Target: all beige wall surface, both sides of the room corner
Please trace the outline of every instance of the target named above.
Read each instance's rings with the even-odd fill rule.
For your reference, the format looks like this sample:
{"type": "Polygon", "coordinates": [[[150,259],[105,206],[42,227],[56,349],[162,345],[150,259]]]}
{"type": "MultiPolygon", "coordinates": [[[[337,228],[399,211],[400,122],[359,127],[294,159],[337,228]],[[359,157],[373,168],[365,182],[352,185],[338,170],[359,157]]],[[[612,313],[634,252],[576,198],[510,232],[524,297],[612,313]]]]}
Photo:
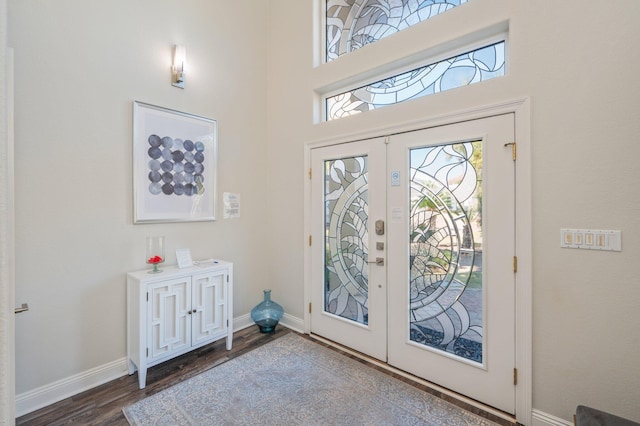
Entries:
{"type": "Polygon", "coordinates": [[[147,235],[234,261],[236,316],[269,285],[302,318],[305,143],[530,96],[533,407],[640,421],[640,3],[474,0],[319,67],[315,3],[8,2],[16,293],[31,306],[18,393],[124,356],[123,274],[145,266],[147,235]],[[508,77],[314,124],[315,89],[502,22],[508,77]],[[174,43],[193,61],[185,91],[168,83],[174,43]],[[241,193],[240,220],[132,225],[133,99],[219,120],[219,195],[241,193]],[[560,249],[561,227],[620,229],[623,251],[560,249]]]}

